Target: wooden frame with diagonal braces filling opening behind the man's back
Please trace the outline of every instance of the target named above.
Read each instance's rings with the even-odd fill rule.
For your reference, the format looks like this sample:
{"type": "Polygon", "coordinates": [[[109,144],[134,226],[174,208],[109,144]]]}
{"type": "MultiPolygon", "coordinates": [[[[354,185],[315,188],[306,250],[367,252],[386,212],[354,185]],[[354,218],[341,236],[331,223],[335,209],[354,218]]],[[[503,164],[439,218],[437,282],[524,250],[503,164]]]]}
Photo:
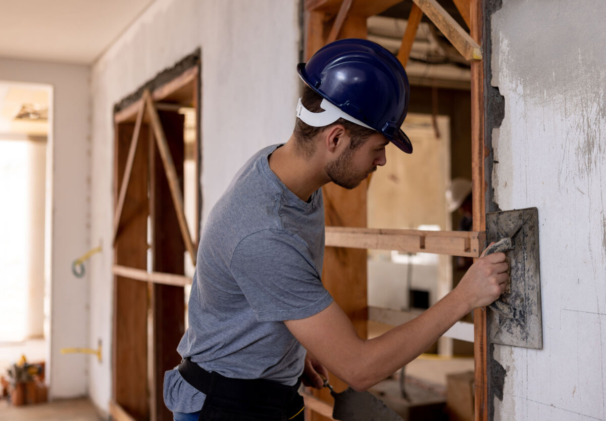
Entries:
{"type": "Polygon", "coordinates": [[[198,76],[199,62],[153,92],[143,89],[141,98],[114,116],[116,258],[112,269],[114,392],[110,409],[120,420],[172,419],[162,399],[162,382],[164,372],[181,360],[176,348],[185,329],[184,286],[191,284],[191,278],[184,275],[184,252],[193,264],[196,258],[196,244],[184,214],[184,116],[178,110],[179,104],[193,105],[198,117],[194,147],[198,151],[197,243],[201,204],[198,76]],[[156,107],[154,99],[164,103],[156,107]]]}

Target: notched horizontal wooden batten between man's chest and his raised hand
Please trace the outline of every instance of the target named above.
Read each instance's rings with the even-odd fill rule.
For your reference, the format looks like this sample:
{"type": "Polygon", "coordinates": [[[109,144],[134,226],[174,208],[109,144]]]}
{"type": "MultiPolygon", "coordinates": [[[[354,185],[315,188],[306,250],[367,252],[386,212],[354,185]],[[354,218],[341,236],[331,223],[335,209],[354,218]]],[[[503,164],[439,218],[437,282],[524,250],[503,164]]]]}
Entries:
{"type": "Polygon", "coordinates": [[[485,238],[485,232],[477,231],[419,231],[327,226],[325,244],[331,247],[479,257],[484,250],[485,238]]]}

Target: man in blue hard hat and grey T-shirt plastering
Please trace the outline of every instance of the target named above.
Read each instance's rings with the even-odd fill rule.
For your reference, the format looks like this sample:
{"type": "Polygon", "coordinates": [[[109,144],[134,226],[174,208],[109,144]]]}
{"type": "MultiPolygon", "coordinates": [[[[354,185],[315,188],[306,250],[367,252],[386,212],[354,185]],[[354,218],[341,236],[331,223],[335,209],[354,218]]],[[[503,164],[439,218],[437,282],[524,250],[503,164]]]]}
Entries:
{"type": "Polygon", "coordinates": [[[473,308],[504,291],[504,254],[483,257],[458,288],[415,320],[372,340],[359,338],[321,281],[321,187],[358,186],[385,164],[408,81],[378,44],[344,39],[299,64],[305,83],[295,130],[242,167],[204,226],[164,402],[185,420],[302,420],[301,382],[321,388],[330,369],[367,389],[415,359],[473,308]]]}

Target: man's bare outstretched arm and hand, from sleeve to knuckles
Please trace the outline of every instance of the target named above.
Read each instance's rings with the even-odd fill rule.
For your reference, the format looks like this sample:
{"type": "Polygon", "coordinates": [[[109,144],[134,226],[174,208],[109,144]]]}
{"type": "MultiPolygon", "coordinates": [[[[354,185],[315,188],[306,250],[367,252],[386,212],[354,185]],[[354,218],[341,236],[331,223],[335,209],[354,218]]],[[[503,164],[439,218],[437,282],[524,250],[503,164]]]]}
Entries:
{"type": "Polygon", "coordinates": [[[496,300],[508,279],[505,255],[495,253],[474,263],[461,283],[419,317],[385,334],[358,337],[338,304],[285,325],[301,344],[352,388],[365,390],[409,363],[465,314],[496,300]]]}

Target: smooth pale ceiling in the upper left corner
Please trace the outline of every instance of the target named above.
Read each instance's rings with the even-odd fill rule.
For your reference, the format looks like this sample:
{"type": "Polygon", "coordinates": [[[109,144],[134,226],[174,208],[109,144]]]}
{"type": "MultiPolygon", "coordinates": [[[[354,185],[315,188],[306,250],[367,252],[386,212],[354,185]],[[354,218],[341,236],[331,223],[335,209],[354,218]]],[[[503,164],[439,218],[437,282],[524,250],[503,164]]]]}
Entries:
{"type": "Polygon", "coordinates": [[[154,0],[0,0],[0,57],[92,64],[154,0]]]}

